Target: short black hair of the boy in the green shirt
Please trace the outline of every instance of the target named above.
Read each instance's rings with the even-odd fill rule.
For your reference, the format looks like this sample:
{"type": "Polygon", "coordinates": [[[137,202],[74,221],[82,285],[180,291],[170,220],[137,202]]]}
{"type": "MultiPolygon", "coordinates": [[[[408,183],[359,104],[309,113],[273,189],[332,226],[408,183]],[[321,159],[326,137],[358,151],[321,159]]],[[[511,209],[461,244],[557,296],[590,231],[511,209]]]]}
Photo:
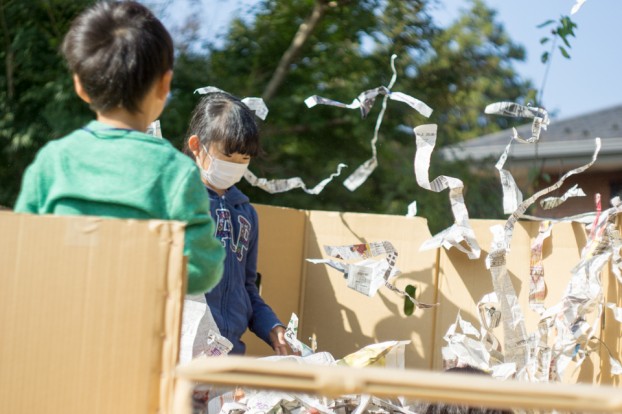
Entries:
{"type": "Polygon", "coordinates": [[[91,109],[138,113],[158,78],[173,69],[173,40],[151,11],[135,1],[98,2],[80,14],[63,40],[71,72],[91,109]]]}

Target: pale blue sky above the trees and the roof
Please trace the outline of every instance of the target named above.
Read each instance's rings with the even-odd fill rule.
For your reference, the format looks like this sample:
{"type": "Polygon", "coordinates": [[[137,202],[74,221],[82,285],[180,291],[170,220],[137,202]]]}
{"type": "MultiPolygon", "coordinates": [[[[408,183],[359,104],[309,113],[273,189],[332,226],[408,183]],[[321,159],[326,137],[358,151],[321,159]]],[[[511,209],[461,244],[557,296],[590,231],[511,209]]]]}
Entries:
{"type": "MultiPolygon", "coordinates": [[[[202,22],[207,36],[215,39],[222,34],[232,16],[244,13],[256,0],[190,0],[201,3],[205,10],[202,22]]],[[[501,22],[510,37],[525,47],[527,60],[516,65],[517,71],[540,87],[545,75],[545,65],[540,55],[545,47],[540,39],[548,35],[547,29],[537,26],[546,20],[557,20],[570,14],[575,0],[485,0],[498,11],[501,22]]],[[[449,24],[460,9],[468,8],[468,0],[441,0],[435,12],[438,22],[449,24]]],[[[198,7],[198,6],[197,6],[198,7]]],[[[169,17],[163,17],[167,26],[179,21],[179,11],[184,7],[169,7],[169,17]]],[[[568,60],[557,51],[552,58],[543,93],[544,106],[556,113],[557,119],[589,113],[622,104],[622,25],[621,0],[587,0],[572,16],[578,25],[576,38],[571,38],[568,60]]]]}

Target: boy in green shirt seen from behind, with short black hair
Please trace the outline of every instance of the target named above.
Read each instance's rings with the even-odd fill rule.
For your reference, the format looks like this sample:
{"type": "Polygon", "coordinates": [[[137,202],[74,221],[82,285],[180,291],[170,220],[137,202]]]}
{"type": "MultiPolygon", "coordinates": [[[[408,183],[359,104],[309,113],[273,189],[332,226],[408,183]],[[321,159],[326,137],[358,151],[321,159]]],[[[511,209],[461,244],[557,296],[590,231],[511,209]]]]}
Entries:
{"type": "Polygon", "coordinates": [[[63,54],[97,120],[45,145],[24,174],[16,212],[186,222],[188,293],[211,290],[225,257],[196,165],[144,133],[173,76],[173,41],[143,5],[100,2],[72,23],[63,54]]]}

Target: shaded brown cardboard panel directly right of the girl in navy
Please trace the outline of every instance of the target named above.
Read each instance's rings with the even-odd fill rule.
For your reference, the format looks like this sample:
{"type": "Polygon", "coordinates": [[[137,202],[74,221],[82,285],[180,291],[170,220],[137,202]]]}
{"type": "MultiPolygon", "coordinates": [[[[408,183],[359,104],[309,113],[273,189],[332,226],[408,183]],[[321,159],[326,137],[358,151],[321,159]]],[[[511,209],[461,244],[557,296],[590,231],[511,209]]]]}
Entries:
{"type": "MultiPolygon", "coordinates": [[[[303,249],[307,213],[291,208],[253,205],[259,216],[260,294],[287,325],[292,312],[300,314],[303,249]]],[[[246,331],[242,340],[246,354],[273,355],[274,351],[254,333],[246,331]]]]}

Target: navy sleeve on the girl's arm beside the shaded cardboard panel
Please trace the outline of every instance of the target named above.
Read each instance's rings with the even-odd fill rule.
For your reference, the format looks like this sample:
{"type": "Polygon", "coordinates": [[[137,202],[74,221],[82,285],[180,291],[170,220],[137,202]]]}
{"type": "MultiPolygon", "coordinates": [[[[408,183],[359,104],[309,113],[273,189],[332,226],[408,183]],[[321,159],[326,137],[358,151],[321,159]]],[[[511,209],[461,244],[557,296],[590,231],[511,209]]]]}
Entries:
{"type": "Polygon", "coordinates": [[[265,343],[270,343],[270,331],[277,325],[283,325],[274,311],[261,296],[257,289],[257,251],[258,251],[258,220],[257,212],[252,210],[253,222],[255,223],[252,239],[248,247],[248,260],[246,261],[246,291],[253,308],[253,316],[249,322],[248,328],[261,338],[265,343]]]}

